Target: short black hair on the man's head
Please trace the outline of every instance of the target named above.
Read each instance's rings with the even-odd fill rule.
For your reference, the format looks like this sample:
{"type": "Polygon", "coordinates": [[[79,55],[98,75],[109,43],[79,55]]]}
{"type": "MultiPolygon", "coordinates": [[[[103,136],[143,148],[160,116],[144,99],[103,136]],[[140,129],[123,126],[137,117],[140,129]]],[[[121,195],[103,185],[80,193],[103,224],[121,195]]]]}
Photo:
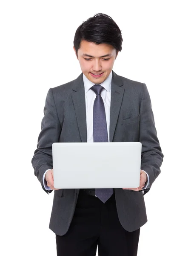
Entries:
{"type": "Polygon", "coordinates": [[[120,28],[110,16],[103,13],[88,18],[77,28],[74,36],[76,55],[82,40],[95,44],[110,44],[117,53],[122,50],[123,38],[120,28]]]}

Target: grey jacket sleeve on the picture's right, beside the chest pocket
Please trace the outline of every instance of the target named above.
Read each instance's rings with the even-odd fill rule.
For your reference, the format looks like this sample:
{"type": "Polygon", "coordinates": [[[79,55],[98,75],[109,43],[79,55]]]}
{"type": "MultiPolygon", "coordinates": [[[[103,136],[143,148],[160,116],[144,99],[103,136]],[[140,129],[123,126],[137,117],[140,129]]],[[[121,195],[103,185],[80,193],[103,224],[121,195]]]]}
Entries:
{"type": "Polygon", "coordinates": [[[148,188],[143,190],[143,195],[145,195],[160,174],[160,166],[164,157],[157,138],[151,99],[145,84],[143,84],[140,106],[140,142],[142,143],[141,169],[148,173],[150,180],[148,188]]]}

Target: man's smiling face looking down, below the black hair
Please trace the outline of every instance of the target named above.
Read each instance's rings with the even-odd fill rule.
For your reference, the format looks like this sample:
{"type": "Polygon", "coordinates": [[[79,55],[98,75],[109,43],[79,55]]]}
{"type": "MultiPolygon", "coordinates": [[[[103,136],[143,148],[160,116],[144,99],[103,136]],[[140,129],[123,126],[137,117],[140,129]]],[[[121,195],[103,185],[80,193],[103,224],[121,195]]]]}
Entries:
{"type": "Polygon", "coordinates": [[[116,49],[110,44],[97,45],[82,40],[77,55],[83,74],[92,83],[101,84],[111,73],[118,53],[116,55],[116,49]],[[95,76],[92,73],[98,75],[95,76]]]}

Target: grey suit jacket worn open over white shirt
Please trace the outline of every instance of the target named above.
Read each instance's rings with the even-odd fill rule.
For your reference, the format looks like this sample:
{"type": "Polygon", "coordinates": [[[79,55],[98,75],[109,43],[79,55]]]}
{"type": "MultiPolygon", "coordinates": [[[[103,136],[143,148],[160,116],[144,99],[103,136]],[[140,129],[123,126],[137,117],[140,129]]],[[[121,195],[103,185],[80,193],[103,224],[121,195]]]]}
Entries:
{"type": "MultiPolygon", "coordinates": [[[[150,178],[150,186],[144,194],[143,191],[114,189],[120,223],[127,231],[134,231],[147,222],[143,195],[160,174],[164,155],[157,138],[146,85],[118,76],[113,70],[112,73],[110,142],[140,141],[141,169],[150,178]]],[[[41,128],[31,163],[34,175],[44,189],[43,174],[53,168],[52,143],[87,142],[83,73],[73,81],[48,90],[41,128]]],[[[49,228],[57,235],[62,236],[68,231],[79,190],[54,190],[49,228]]],[[[52,190],[45,191],[51,193],[52,190]]]]}

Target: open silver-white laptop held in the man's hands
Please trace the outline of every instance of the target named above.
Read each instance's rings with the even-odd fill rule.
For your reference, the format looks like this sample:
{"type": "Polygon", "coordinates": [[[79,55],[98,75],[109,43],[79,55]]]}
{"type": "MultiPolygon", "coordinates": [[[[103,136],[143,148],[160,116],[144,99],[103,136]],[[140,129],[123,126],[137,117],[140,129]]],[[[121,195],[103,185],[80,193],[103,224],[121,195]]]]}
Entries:
{"type": "Polygon", "coordinates": [[[53,143],[56,189],[140,186],[140,142],[53,143]]]}

